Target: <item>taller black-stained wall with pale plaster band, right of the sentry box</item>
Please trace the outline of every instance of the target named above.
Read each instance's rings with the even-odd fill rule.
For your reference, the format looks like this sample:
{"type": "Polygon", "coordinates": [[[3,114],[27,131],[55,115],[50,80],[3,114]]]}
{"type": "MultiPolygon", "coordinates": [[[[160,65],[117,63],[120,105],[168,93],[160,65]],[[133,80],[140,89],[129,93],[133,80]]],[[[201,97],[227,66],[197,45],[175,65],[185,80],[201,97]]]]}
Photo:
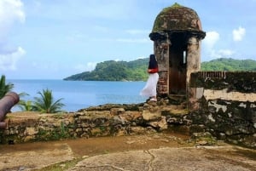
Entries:
{"type": "Polygon", "coordinates": [[[256,147],[256,72],[195,72],[189,87],[192,132],[256,147]]]}

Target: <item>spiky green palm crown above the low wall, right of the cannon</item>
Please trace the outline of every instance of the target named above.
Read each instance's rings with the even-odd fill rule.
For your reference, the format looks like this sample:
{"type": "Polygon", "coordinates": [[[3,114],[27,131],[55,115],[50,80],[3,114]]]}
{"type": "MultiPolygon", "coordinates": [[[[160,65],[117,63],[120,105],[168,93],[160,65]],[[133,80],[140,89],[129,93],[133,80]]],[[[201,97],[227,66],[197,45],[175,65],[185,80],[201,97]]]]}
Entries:
{"type": "Polygon", "coordinates": [[[40,94],[41,97],[34,98],[35,111],[56,113],[61,111],[61,107],[64,106],[64,104],[61,103],[61,100],[63,100],[63,98],[54,101],[52,91],[48,88],[43,89],[43,92],[38,92],[38,94],[40,94]]]}

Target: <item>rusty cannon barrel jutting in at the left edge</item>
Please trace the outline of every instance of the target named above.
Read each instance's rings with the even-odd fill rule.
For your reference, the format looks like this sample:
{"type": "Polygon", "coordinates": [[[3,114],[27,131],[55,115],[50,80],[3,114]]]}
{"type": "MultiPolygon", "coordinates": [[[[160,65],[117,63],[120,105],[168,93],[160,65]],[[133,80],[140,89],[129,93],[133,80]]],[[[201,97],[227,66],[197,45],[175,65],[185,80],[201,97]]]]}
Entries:
{"type": "Polygon", "coordinates": [[[3,96],[0,100],[0,122],[3,121],[5,115],[19,102],[19,100],[20,97],[15,92],[8,92],[3,96]]]}

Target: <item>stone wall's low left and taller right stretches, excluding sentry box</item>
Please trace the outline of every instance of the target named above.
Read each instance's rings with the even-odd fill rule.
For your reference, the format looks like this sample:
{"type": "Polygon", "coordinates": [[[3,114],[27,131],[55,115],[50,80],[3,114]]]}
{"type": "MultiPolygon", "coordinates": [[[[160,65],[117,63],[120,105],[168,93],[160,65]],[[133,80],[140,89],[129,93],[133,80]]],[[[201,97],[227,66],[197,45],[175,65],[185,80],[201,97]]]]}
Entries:
{"type": "Polygon", "coordinates": [[[0,129],[0,144],[164,130],[189,134],[195,143],[224,140],[256,149],[256,72],[192,73],[188,97],[169,95],[157,102],[59,114],[9,113],[4,119],[7,128],[0,129]]]}

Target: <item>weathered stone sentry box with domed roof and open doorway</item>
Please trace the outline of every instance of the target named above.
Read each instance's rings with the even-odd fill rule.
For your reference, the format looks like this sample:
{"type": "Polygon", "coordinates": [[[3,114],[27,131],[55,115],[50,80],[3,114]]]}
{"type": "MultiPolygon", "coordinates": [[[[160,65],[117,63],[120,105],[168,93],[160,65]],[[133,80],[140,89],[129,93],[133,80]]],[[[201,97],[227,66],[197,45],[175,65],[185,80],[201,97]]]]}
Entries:
{"type": "Polygon", "coordinates": [[[201,39],[206,36],[195,10],[177,3],[163,9],[149,37],[159,65],[159,95],[186,95],[190,73],[201,70],[201,39]]]}

